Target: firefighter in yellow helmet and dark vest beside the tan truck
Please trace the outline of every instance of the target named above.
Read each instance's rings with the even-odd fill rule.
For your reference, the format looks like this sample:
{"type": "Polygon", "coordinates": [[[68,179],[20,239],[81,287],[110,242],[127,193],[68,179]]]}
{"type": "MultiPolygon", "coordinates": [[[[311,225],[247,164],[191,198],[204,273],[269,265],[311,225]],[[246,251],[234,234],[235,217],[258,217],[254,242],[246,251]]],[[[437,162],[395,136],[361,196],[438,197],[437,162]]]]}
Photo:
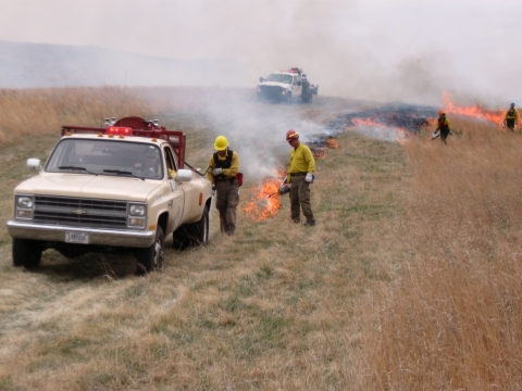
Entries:
{"type": "Polygon", "coordinates": [[[239,203],[239,156],[228,149],[228,140],[217,136],[214,152],[209,160],[207,177],[214,184],[216,191],[215,207],[220,212],[221,231],[234,235],[236,229],[236,207],[239,203]]]}

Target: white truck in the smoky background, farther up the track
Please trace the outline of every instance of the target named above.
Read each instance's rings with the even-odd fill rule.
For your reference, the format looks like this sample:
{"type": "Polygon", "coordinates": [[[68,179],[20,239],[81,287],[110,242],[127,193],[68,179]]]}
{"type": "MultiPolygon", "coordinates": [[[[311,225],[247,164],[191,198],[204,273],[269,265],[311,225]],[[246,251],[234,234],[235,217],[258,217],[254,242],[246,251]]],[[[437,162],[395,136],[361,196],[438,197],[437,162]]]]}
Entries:
{"type": "Polygon", "coordinates": [[[291,67],[260,77],[257,86],[258,101],[291,102],[301,100],[310,103],[318,94],[319,86],[311,85],[301,68],[291,67]]]}

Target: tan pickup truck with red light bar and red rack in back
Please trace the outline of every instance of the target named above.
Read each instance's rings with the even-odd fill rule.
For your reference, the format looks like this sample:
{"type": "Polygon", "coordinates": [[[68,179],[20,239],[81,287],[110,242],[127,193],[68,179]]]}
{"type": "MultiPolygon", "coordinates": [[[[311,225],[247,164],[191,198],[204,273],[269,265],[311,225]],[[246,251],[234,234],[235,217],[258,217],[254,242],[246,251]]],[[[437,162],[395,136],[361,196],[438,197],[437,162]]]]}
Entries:
{"type": "Polygon", "coordinates": [[[207,244],[212,184],[186,169],[186,135],[126,117],[103,127],[63,126],[39,174],[14,189],[13,264],[41,253],[133,253],[137,273],[162,267],[165,238],[178,249],[207,244]]]}

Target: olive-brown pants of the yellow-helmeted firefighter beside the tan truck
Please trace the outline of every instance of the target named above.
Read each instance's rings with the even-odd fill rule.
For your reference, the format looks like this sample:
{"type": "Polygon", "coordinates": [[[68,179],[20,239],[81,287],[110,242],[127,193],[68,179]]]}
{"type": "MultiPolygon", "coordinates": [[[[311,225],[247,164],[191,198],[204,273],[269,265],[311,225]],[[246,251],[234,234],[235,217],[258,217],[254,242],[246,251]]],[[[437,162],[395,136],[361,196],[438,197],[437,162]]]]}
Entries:
{"type": "Polygon", "coordinates": [[[236,207],[239,203],[239,184],[237,179],[215,181],[215,207],[220,211],[221,231],[234,235],[236,230],[236,207]]]}

